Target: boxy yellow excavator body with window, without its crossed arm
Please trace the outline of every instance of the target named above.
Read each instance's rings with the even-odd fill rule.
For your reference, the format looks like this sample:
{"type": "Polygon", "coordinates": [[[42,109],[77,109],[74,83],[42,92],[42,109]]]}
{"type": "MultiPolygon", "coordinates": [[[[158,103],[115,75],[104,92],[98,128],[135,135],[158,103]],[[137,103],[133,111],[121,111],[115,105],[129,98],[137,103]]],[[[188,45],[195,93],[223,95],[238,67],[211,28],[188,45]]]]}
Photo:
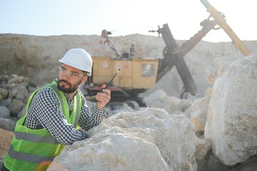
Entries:
{"type": "MultiPolygon", "coordinates": [[[[154,88],[157,80],[159,60],[130,53],[120,55],[114,43],[109,38],[110,31],[103,30],[100,43],[107,43],[115,56],[92,56],[93,74],[83,87],[86,95],[95,95],[103,84],[107,84],[118,68],[119,74],[113,79],[108,89],[112,97],[136,97],[137,93],[154,88]]],[[[130,48],[130,47],[129,47],[130,48]]],[[[104,53],[103,53],[104,54],[104,53]]]]}

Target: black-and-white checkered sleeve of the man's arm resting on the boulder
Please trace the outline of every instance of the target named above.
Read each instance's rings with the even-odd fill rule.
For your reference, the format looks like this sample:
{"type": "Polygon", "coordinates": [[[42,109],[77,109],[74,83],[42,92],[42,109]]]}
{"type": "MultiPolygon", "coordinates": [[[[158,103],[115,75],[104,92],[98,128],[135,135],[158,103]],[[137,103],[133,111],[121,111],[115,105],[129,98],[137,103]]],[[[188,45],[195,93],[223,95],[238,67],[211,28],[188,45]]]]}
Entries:
{"type": "Polygon", "coordinates": [[[76,130],[68,123],[59,105],[58,98],[51,88],[39,90],[28,110],[26,126],[33,128],[33,125],[36,125],[33,122],[36,120],[64,145],[71,145],[75,141],[87,138],[85,130],[76,130]]]}

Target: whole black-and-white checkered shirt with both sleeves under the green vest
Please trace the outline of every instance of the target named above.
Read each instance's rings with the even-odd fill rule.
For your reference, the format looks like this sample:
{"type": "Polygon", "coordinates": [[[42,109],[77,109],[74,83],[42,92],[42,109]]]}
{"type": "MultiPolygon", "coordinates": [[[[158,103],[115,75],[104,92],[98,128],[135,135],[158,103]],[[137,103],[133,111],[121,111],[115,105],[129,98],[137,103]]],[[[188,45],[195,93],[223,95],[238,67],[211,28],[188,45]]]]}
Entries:
{"type": "MultiPolygon", "coordinates": [[[[75,95],[78,94],[78,91],[75,95]]],[[[68,108],[71,114],[74,97],[68,98],[68,95],[65,94],[65,98],[68,102],[68,108]]],[[[64,145],[71,145],[75,141],[87,138],[85,130],[89,130],[101,123],[104,117],[105,109],[95,107],[93,112],[91,112],[88,105],[85,103],[85,97],[82,95],[82,109],[78,125],[83,129],[76,130],[73,128],[73,125],[67,123],[65,116],[60,110],[58,98],[53,90],[51,88],[42,88],[38,90],[38,93],[34,95],[31,101],[25,125],[33,130],[46,128],[58,142],[64,145]]]]}

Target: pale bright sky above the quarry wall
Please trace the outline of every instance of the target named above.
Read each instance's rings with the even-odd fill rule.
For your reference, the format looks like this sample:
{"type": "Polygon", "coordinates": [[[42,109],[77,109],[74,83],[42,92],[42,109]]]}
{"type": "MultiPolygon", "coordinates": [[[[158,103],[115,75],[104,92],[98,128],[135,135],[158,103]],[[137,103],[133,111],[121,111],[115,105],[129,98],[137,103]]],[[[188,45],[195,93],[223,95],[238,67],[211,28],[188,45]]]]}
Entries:
{"type": "MultiPolygon", "coordinates": [[[[257,40],[256,0],[209,0],[242,41],[257,40]]],[[[209,17],[200,0],[0,0],[0,33],[33,36],[143,34],[158,36],[168,24],[177,40],[188,40],[209,17]]],[[[211,30],[204,41],[226,42],[224,30],[211,30]]]]}

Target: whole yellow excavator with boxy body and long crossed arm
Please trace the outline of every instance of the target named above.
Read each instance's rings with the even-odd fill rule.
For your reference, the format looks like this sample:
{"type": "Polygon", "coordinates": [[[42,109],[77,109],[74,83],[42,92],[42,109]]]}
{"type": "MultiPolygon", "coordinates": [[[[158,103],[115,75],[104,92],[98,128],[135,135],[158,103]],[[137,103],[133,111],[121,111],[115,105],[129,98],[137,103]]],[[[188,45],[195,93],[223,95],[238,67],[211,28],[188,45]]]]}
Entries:
{"type": "Polygon", "coordinates": [[[223,28],[224,31],[231,37],[232,42],[238,48],[243,55],[251,53],[243,42],[236,36],[234,31],[226,24],[226,18],[224,14],[216,11],[207,0],[200,0],[207,11],[211,14],[208,19],[201,21],[201,30],[198,31],[188,41],[177,45],[172,33],[167,24],[164,24],[162,28],[158,26],[157,32],[162,34],[166,47],[163,50],[162,59],[138,58],[130,53],[120,53],[115,48],[114,44],[108,37],[110,31],[103,30],[101,36],[102,45],[108,43],[115,52],[116,58],[110,56],[98,56],[93,57],[93,76],[88,79],[88,83],[84,86],[87,95],[95,95],[100,88],[101,84],[106,84],[110,81],[114,73],[120,68],[119,75],[112,81],[112,85],[109,89],[112,90],[112,97],[137,97],[137,93],[141,93],[149,88],[154,88],[154,85],[160,78],[162,78],[173,66],[177,68],[179,76],[182,78],[184,88],[181,93],[181,98],[185,93],[197,94],[197,88],[194,80],[189,72],[189,68],[184,61],[184,56],[196,46],[202,38],[211,31],[211,29],[223,28]],[[211,19],[213,18],[213,19],[211,19]]]}

